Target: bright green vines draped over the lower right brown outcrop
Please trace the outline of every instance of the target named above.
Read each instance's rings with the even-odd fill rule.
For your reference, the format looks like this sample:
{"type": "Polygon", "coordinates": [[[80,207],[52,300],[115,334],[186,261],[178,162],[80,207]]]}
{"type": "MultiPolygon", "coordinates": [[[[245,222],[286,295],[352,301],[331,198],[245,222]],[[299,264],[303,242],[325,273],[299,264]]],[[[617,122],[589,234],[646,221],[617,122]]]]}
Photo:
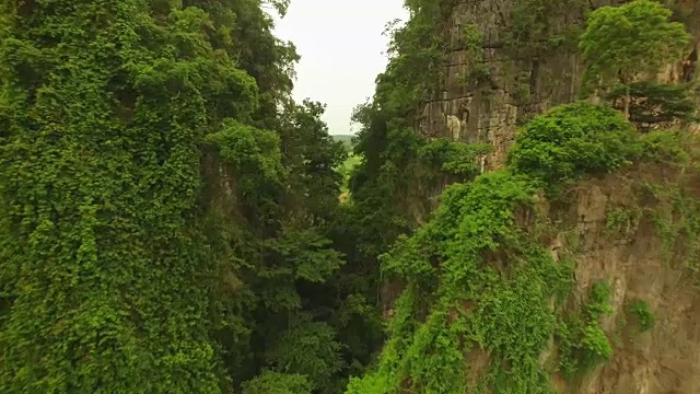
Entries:
{"type": "Polygon", "coordinates": [[[514,220],[536,189],[526,176],[501,171],[445,190],[435,218],[383,259],[387,274],[410,290],[396,304],[377,372],[352,381],[348,393],[547,387],[537,360],[556,325],[549,299],[567,294],[572,267],[528,242],[514,220]],[[492,367],[469,381],[465,357],[478,349],[492,367]]]}

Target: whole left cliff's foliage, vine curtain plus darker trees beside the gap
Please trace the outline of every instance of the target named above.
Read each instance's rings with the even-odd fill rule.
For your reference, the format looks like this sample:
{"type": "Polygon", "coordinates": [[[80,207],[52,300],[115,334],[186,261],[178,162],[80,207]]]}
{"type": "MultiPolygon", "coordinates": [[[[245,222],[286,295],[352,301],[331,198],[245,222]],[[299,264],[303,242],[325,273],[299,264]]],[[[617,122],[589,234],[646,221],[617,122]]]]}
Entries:
{"type": "Polygon", "coordinates": [[[0,7],[0,391],[339,392],[381,326],[260,1],[0,7]]]}

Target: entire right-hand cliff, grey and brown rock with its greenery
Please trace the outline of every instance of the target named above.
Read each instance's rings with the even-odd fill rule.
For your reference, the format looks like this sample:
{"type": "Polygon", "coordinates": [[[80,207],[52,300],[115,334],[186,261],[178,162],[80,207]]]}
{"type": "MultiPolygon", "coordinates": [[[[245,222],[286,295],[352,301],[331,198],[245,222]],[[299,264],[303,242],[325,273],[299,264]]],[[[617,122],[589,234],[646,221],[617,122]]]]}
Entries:
{"type": "Polygon", "coordinates": [[[390,325],[348,393],[695,392],[696,3],[407,5],[357,113],[390,325]]]}

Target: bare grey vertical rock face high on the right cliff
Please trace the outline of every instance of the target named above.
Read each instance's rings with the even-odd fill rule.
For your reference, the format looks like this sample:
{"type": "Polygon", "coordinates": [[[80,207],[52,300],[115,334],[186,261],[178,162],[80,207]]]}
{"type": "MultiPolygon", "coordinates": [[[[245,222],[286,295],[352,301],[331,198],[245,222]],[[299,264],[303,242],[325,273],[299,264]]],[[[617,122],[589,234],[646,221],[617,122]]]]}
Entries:
{"type": "MultiPolygon", "coordinates": [[[[494,152],[486,158],[486,167],[499,167],[520,123],[578,97],[583,65],[575,39],[567,42],[567,37],[582,26],[592,7],[615,3],[619,1],[460,0],[446,24],[444,77],[433,95],[436,99],[423,105],[421,131],[465,142],[488,141],[494,152]],[[527,15],[534,20],[522,22],[523,10],[537,8],[539,14],[527,15]],[[465,49],[465,31],[472,27],[483,38],[480,54],[465,49]],[[477,69],[481,70],[480,78],[470,78],[477,69]]],[[[695,50],[686,61],[669,65],[660,77],[695,81],[699,76],[700,2],[666,3],[675,19],[688,26],[695,50]]]]}

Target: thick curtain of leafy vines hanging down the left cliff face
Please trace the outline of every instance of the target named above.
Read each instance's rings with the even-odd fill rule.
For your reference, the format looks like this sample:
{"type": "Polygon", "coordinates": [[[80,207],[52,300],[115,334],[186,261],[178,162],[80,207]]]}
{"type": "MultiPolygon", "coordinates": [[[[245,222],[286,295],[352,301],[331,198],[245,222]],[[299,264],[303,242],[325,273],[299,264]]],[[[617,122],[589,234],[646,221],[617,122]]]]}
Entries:
{"type": "Polygon", "coordinates": [[[220,392],[197,142],[255,80],[197,8],[2,5],[0,391],[220,392]]]}

